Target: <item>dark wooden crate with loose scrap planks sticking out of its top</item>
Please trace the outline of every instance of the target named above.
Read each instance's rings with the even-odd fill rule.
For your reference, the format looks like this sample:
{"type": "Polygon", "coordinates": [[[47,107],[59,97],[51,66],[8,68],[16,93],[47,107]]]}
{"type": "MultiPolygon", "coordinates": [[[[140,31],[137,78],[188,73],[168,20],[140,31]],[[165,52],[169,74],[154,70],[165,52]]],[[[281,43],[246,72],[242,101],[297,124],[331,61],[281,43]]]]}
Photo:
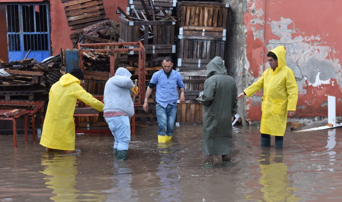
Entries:
{"type": "Polygon", "coordinates": [[[175,53],[174,28],[173,21],[129,21],[120,17],[119,42],[142,41],[146,54],[175,53]],[[153,33],[148,31],[149,26],[153,33]]]}

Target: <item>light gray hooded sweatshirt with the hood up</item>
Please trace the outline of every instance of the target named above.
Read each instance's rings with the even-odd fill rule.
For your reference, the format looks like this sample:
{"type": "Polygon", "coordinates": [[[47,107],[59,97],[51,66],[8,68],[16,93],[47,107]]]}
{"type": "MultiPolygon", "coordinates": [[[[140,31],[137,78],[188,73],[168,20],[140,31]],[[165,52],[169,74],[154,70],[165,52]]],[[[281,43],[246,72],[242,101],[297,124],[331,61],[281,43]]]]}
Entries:
{"type": "Polygon", "coordinates": [[[130,79],[132,74],[125,68],[119,67],[114,77],[110,78],[106,85],[103,96],[105,104],[103,111],[121,111],[129,117],[134,115],[134,107],[130,89],[134,87],[130,79]]]}

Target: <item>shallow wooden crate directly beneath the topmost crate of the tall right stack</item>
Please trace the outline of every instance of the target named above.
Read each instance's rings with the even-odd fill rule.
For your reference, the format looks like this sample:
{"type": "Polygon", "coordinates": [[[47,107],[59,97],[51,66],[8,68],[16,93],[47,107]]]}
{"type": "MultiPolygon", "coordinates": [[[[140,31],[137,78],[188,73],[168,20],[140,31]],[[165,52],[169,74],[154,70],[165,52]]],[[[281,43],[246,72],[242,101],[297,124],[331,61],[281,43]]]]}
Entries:
{"type": "Polygon", "coordinates": [[[203,27],[203,26],[182,26],[178,31],[178,39],[197,39],[209,41],[225,41],[226,28],[224,27],[203,27]]]}

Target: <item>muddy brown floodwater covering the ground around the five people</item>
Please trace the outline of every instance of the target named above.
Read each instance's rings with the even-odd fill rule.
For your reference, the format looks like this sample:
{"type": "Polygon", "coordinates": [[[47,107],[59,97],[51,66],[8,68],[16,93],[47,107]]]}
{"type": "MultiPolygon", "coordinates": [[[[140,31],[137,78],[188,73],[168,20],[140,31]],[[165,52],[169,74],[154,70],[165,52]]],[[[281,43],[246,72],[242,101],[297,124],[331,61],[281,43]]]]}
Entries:
{"type": "Polygon", "coordinates": [[[76,153],[45,152],[39,140],[0,135],[0,201],[342,201],[342,130],[286,132],[284,148],[260,147],[257,127],[233,131],[233,165],[205,169],[202,125],[175,127],[158,145],[157,126],[137,127],[129,159],[114,137],[82,134],[76,153]]]}

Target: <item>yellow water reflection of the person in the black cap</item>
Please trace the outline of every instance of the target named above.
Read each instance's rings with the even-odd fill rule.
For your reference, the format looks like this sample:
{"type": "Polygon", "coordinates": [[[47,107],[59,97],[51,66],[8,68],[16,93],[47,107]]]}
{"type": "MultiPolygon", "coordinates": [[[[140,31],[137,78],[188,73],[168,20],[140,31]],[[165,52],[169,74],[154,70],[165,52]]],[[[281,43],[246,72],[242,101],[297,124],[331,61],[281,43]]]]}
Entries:
{"type": "Polygon", "coordinates": [[[52,193],[56,196],[51,197],[53,201],[77,201],[76,175],[77,163],[75,156],[68,156],[66,154],[43,155],[41,165],[45,166],[41,173],[47,175],[43,179],[48,188],[53,189],[52,193]]]}

